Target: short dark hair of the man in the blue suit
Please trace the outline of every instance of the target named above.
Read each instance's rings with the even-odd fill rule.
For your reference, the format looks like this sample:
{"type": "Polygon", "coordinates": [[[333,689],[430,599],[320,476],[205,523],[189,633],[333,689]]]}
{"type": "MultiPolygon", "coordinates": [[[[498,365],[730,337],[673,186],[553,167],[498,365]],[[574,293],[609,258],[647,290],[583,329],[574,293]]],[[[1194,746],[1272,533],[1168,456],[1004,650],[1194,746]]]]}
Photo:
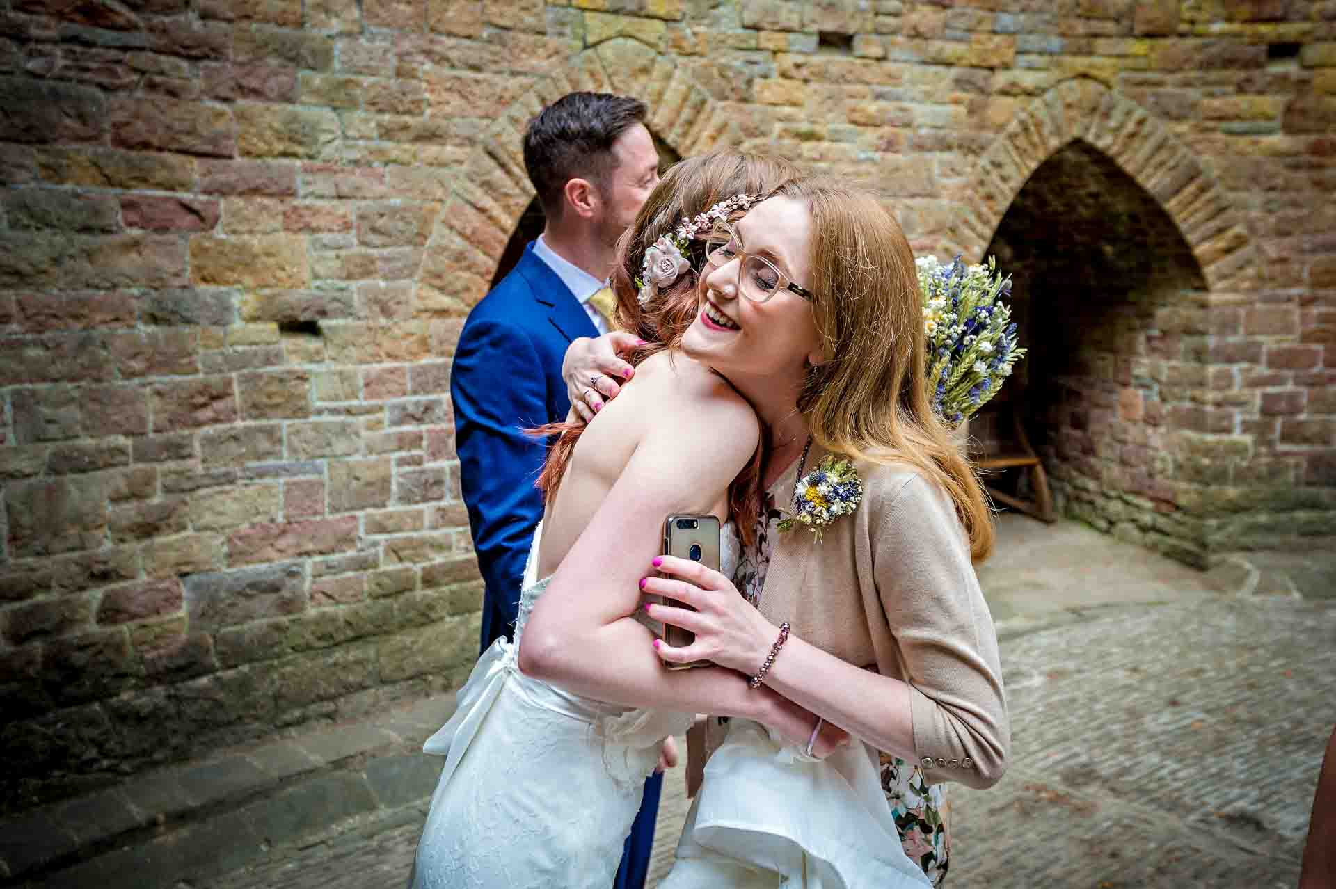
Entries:
{"type": "Polygon", "coordinates": [[[549,219],[561,215],[572,179],[599,188],[613,171],[612,143],[644,123],[645,103],[607,92],[568,92],[538,112],[524,131],[524,168],[549,219]]]}

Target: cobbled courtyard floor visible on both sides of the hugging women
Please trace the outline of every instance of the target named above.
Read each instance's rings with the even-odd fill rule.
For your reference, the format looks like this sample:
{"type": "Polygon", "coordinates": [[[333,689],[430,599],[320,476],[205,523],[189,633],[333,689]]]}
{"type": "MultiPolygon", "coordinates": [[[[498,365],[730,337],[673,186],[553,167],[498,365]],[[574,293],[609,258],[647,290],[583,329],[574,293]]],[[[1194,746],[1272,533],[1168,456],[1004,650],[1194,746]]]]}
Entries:
{"type": "MultiPolygon", "coordinates": [[[[1003,526],[1014,545],[981,571],[1013,765],[990,790],[951,788],[946,885],[1295,886],[1336,723],[1336,605],[1222,595],[1088,529],[1031,529],[1045,530],[1003,526]]],[[[401,886],[422,812],[196,885],[401,886]]],[[[679,769],[664,784],[651,886],[684,812],[679,769]]]]}

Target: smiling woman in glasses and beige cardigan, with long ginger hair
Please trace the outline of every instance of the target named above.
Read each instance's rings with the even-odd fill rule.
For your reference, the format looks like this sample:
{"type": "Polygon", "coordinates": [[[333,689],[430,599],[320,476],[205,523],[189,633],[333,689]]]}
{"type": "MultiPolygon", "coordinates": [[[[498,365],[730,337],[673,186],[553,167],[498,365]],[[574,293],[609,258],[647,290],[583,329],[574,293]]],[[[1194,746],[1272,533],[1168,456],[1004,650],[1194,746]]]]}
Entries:
{"type": "MultiPolygon", "coordinates": [[[[882,782],[887,790],[902,785],[900,838],[937,881],[945,876],[945,829],[923,817],[941,804],[925,781],[987,788],[1001,777],[1010,742],[997,635],[971,565],[991,549],[991,519],[978,481],[930,408],[914,258],[894,218],[872,198],[832,183],[800,180],[779,195],[810,211],[811,255],[795,278],[812,294],[820,350],[783,386],[772,368],[756,379],[728,376],[768,434],[762,542],[735,578],[665,558],[645,566],[643,589],[695,609],[648,607],[656,621],[696,634],[687,647],[660,645],[664,661],[708,659],[758,677],[890,754],[882,756],[882,782]],[[862,502],[822,527],[820,539],[802,523],[778,535],[776,519],[798,513],[799,479],[827,455],[851,461],[862,502]],[[922,777],[911,780],[911,772],[922,777]]],[[[711,243],[701,272],[705,299],[725,319],[737,318],[733,307],[747,296],[739,292],[747,287],[741,264],[760,240],[758,227],[748,228],[752,214],[711,243]]],[[[740,336],[767,335],[728,332],[697,344],[700,359],[708,363],[711,348],[739,348],[740,336]]],[[[591,367],[620,371],[607,342],[577,342],[566,367],[574,396],[593,407],[600,399],[582,382],[591,367]]],[[[737,731],[736,721],[721,722],[708,723],[711,748],[737,731]]],[[[680,860],[731,842],[701,822],[712,769],[680,860]]]]}

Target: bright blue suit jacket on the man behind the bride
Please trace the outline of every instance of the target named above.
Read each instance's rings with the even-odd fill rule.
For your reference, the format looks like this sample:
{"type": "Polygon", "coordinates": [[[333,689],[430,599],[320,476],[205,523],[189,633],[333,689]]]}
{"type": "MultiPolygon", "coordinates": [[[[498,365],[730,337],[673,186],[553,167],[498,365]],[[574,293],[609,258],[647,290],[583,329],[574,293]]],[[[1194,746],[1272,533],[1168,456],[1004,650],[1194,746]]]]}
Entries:
{"type": "Polygon", "coordinates": [[[482,650],[510,637],[524,563],[542,518],[534,487],[546,444],[521,428],[566,418],[561,359],[577,336],[599,331],[552,268],[524,250],[520,263],[464,323],[450,370],[460,482],[486,583],[482,650]]]}

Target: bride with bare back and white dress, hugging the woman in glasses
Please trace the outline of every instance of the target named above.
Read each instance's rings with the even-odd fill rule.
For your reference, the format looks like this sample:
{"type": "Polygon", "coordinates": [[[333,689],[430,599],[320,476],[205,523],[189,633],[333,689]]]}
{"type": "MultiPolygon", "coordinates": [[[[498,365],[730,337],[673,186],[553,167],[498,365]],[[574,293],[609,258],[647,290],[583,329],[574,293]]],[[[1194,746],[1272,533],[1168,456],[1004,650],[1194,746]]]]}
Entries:
{"type": "MultiPolygon", "coordinates": [[[[790,172],[737,152],[683,162],[637,216],[615,286],[635,292],[645,244],[684,215],[772,188],[790,172]]],[[[693,323],[695,274],[677,271],[677,280],[660,276],[660,292],[640,311],[656,332],[673,330],[659,318],[673,306],[679,332],[693,323]]],[[[425,746],[445,766],[413,889],[607,889],[660,742],[683,731],[688,714],[755,719],[795,745],[814,738],[812,714],[748,689],[735,670],[665,670],[640,610],[637,582],[667,515],[727,519],[736,503],[755,502],[759,426],[747,402],[705,364],[647,347],[617,403],[569,431],[541,479],[548,503],[514,643],[498,639],[484,653],[454,715],[425,746]]],[[[818,754],[843,737],[815,735],[818,754]]]]}

